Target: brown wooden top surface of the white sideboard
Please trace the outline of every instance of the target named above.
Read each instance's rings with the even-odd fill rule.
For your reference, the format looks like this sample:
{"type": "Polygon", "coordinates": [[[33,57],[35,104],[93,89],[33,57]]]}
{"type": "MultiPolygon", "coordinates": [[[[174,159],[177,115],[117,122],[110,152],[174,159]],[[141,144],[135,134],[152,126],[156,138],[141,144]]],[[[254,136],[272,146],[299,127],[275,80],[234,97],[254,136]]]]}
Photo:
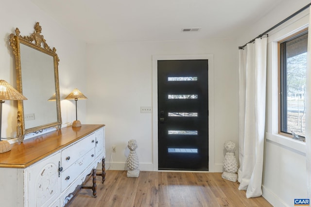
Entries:
{"type": "Polygon", "coordinates": [[[82,127],[64,127],[11,144],[11,151],[0,154],[0,167],[26,168],[52,153],[85,137],[104,125],[82,125],[82,127]]]}

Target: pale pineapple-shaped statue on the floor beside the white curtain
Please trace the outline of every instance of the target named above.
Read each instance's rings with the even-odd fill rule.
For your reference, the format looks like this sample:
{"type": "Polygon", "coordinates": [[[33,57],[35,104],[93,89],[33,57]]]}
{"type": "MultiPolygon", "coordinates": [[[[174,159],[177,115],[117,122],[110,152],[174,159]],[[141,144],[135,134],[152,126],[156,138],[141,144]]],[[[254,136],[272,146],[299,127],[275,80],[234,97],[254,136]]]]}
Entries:
{"type": "Polygon", "coordinates": [[[238,163],[234,155],[235,143],[230,140],[226,141],[225,150],[224,173],[222,174],[222,178],[236,182],[238,180],[238,175],[236,174],[238,170],[238,163]]]}

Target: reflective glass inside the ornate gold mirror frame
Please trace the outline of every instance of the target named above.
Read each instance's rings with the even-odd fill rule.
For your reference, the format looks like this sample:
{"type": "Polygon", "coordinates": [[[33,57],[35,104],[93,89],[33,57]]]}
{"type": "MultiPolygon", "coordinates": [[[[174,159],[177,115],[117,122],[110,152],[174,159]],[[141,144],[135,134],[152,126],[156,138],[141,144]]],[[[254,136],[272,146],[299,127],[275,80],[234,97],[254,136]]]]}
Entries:
{"type": "Polygon", "coordinates": [[[22,66],[25,128],[57,122],[56,101],[49,101],[55,94],[53,57],[20,44],[22,66]],[[34,61],[37,60],[37,61],[34,61]]]}

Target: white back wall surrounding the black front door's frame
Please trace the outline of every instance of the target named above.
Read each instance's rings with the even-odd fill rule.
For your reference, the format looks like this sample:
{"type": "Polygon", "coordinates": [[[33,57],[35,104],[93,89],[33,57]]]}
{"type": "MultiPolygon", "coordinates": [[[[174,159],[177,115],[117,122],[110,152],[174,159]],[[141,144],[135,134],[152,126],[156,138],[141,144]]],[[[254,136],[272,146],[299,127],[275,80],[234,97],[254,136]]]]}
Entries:
{"type": "Polygon", "coordinates": [[[224,142],[237,143],[237,52],[232,39],[87,45],[86,120],[106,125],[106,167],[123,170],[127,142],[136,139],[140,170],[153,170],[152,114],[140,113],[152,106],[152,56],[213,54],[214,169],[222,172],[224,142]]]}

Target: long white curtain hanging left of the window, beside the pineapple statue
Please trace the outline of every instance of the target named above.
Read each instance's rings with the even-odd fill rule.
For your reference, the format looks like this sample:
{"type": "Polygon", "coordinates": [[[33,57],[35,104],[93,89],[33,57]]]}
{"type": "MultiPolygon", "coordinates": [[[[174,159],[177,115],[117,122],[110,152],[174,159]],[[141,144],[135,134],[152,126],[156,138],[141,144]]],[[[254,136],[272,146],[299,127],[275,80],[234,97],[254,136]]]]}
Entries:
{"type": "Polygon", "coordinates": [[[266,110],[267,38],[239,50],[239,190],[246,197],[262,194],[266,110]]]}

